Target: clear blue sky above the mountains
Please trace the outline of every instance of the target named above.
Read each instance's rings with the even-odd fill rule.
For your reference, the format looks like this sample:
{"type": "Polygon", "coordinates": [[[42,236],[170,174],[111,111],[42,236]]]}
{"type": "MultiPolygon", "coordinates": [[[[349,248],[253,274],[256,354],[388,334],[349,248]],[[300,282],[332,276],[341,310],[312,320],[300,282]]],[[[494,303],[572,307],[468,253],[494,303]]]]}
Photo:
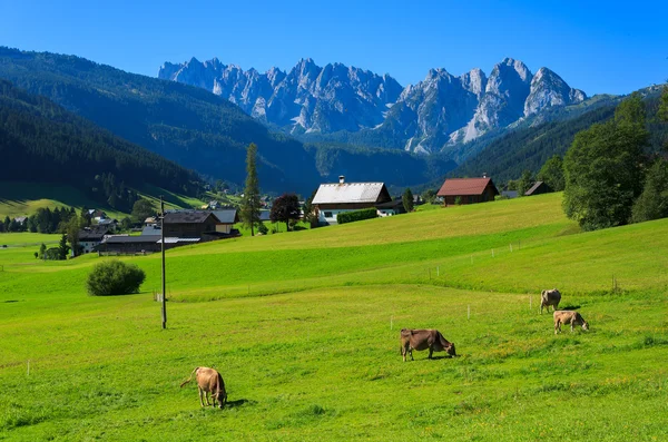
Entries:
{"type": "Polygon", "coordinates": [[[156,76],[165,61],[289,69],[311,57],[390,73],[489,73],[504,57],[570,86],[628,94],[668,79],[668,1],[0,0],[0,46],[72,53],[156,76]]]}

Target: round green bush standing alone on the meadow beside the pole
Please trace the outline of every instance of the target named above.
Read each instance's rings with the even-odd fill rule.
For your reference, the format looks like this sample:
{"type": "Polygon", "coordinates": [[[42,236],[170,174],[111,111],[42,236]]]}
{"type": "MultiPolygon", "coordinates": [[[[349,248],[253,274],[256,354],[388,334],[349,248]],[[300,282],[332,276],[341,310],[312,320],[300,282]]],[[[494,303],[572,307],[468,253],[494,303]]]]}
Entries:
{"type": "Polygon", "coordinates": [[[107,261],[92,267],[86,287],[92,296],[112,296],[138,293],[146,274],[135,264],[107,261]]]}

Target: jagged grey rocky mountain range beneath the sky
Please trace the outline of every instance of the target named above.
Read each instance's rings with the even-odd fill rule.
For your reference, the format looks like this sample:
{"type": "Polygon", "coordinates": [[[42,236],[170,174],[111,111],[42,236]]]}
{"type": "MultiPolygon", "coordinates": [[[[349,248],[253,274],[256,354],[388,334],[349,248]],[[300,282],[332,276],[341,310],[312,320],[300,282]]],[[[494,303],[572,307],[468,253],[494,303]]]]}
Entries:
{"type": "Polygon", "coordinates": [[[366,132],[419,154],[448,153],[456,146],[513,127],[587,95],[548,68],[532,73],[505,58],[488,76],[481,69],[455,77],[431,69],[416,85],[401,86],[390,75],[302,59],[289,71],[262,73],[214,58],[166,62],[158,77],[202,87],[239,106],[269,127],[297,137],[366,132]]]}

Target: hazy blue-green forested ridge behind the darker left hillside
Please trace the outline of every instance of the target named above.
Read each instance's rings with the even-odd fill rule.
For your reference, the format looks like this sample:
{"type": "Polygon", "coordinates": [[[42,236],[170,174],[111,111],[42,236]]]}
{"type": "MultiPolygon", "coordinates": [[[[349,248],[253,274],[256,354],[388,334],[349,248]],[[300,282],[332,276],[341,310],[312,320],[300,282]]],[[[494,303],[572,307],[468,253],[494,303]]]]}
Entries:
{"type": "MultiPolygon", "coordinates": [[[[346,173],[330,161],[332,167],[320,169],[331,174],[321,175],[316,167],[323,164],[322,155],[317,157],[320,146],[305,148],[287,136],[271,134],[236,105],[200,88],[127,73],[73,56],[8,48],[0,48],[0,78],[207,177],[242,184],[250,143],[258,147],[264,191],[310,194],[320,183],[346,173]]],[[[324,148],[331,158],[330,149],[335,147],[324,148]]],[[[435,161],[434,169],[426,159],[403,151],[380,159],[355,149],[341,155],[348,158],[351,180],[395,186],[424,183],[453,166],[435,161]],[[415,167],[404,169],[410,164],[415,167]]]]}

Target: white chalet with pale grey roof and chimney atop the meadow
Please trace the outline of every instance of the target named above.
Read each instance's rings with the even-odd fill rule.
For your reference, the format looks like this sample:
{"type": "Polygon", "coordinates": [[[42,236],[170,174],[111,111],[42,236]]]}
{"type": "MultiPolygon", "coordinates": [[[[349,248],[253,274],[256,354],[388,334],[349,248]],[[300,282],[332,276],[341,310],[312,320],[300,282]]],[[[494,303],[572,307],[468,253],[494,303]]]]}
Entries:
{"type": "Polygon", "coordinates": [[[313,197],[313,206],[320,225],[336,224],[336,215],[345,212],[376,207],[391,203],[392,197],[383,183],[338,183],[321,184],[313,197]]]}

